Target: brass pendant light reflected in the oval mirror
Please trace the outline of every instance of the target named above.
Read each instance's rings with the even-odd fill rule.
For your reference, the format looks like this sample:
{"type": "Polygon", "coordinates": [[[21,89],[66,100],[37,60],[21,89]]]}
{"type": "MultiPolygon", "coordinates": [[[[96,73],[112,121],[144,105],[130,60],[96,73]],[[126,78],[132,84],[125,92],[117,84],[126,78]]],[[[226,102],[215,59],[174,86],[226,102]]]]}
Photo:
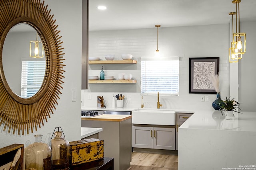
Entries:
{"type": "Polygon", "coordinates": [[[44,46],[41,41],[37,40],[36,33],[36,41],[30,41],[30,57],[32,58],[44,58],[44,46]]]}

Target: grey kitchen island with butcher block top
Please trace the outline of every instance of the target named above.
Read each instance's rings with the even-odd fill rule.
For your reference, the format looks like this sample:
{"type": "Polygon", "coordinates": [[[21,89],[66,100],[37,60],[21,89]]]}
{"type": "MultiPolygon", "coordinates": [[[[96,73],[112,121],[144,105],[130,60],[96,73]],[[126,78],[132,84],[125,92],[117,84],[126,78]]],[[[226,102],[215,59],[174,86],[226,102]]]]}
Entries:
{"type": "Polygon", "coordinates": [[[82,117],[82,127],[102,128],[104,157],[114,158],[114,170],[127,170],[132,160],[132,115],[82,117]]]}

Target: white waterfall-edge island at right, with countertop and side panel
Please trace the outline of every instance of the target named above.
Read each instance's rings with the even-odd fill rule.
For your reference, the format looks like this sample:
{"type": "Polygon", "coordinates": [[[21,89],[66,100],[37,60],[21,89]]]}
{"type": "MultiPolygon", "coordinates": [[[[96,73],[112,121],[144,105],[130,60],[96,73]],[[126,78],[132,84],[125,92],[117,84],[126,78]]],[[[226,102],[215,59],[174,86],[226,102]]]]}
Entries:
{"type": "Polygon", "coordinates": [[[179,170],[256,169],[256,112],[196,111],[178,129],[179,170]]]}

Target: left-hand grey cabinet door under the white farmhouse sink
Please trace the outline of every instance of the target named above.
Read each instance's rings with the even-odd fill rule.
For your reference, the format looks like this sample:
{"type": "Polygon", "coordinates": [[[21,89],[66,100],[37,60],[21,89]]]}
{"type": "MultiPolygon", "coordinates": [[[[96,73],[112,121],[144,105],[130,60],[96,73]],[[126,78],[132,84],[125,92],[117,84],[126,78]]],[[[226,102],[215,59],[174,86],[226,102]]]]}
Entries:
{"type": "Polygon", "coordinates": [[[153,127],[132,126],[132,147],[153,148],[153,127]]]}

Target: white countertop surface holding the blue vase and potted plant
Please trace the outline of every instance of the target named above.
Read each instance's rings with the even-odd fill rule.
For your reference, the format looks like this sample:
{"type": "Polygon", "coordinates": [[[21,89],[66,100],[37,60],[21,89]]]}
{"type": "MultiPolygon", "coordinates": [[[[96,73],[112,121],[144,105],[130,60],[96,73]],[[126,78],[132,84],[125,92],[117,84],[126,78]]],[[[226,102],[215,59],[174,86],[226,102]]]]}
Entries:
{"type": "Polygon", "coordinates": [[[221,111],[196,111],[179,129],[256,132],[256,112],[234,112],[234,115],[235,120],[226,120],[221,111]]]}

